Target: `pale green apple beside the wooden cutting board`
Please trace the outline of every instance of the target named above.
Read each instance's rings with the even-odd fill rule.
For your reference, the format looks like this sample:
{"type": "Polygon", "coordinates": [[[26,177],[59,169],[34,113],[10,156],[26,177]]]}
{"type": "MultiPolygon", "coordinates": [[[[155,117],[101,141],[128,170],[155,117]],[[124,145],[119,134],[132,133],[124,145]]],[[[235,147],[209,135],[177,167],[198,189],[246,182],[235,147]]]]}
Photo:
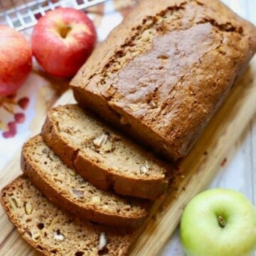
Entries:
{"type": "Polygon", "coordinates": [[[237,191],[214,188],[195,196],[181,218],[188,256],[247,256],[256,247],[256,210],[237,191]]]}

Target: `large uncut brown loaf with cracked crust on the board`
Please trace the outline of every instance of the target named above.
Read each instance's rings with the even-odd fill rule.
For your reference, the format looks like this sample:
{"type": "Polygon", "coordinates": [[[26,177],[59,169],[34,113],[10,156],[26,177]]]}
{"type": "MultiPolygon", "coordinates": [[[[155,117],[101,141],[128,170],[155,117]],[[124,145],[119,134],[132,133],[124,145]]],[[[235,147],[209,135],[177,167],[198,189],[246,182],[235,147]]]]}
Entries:
{"type": "Polygon", "coordinates": [[[220,1],[144,0],[71,81],[90,108],[179,159],[256,50],[256,28],[220,1]]]}

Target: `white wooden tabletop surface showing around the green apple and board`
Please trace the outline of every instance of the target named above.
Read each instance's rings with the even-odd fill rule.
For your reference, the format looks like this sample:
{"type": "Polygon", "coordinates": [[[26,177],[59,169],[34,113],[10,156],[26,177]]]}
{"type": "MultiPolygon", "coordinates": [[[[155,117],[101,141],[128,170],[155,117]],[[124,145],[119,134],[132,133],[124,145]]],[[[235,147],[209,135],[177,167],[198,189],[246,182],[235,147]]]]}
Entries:
{"type": "MultiPolygon", "coordinates": [[[[223,0],[223,2],[256,25],[255,0],[223,0]]],[[[256,206],[256,115],[223,159],[227,161],[224,166],[220,166],[209,188],[232,188],[240,191],[256,206]]],[[[160,255],[185,256],[179,241],[178,228],[160,255]]],[[[256,256],[256,252],[254,255],[256,256]]]]}

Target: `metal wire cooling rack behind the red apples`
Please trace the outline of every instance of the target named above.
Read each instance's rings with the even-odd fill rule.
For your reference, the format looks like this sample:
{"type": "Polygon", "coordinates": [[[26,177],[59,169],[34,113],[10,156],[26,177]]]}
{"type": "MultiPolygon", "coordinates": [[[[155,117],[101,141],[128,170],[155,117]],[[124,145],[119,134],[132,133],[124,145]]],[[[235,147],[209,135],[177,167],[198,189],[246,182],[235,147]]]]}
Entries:
{"type": "Polygon", "coordinates": [[[85,9],[107,0],[0,0],[0,23],[21,31],[34,26],[47,11],[60,6],[85,9]]]}

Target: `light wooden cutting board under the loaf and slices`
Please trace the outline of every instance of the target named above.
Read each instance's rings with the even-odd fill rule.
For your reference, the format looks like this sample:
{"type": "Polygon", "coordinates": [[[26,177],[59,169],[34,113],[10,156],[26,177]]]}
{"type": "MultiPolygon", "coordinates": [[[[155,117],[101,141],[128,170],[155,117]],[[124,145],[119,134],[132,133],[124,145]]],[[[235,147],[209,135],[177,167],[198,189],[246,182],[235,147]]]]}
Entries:
{"type": "MultiPolygon", "coordinates": [[[[74,102],[70,91],[66,92],[56,103],[74,102]]],[[[223,158],[231,146],[240,137],[253,114],[256,112],[256,56],[250,67],[233,87],[228,99],[201,134],[190,154],[181,162],[182,174],[178,183],[169,189],[164,203],[156,201],[151,209],[153,218],[138,231],[134,238],[131,255],[158,255],[159,250],[176,229],[186,203],[202,191],[220,169],[223,158]],[[161,206],[161,207],[159,207],[161,206]]],[[[42,117],[44,118],[44,117],[42,117]]],[[[33,130],[40,131],[41,126],[33,130]]],[[[20,151],[14,159],[0,171],[0,188],[21,173],[19,166],[20,151]]],[[[0,255],[32,256],[41,255],[21,239],[21,236],[7,219],[0,208],[0,255]]]]}

